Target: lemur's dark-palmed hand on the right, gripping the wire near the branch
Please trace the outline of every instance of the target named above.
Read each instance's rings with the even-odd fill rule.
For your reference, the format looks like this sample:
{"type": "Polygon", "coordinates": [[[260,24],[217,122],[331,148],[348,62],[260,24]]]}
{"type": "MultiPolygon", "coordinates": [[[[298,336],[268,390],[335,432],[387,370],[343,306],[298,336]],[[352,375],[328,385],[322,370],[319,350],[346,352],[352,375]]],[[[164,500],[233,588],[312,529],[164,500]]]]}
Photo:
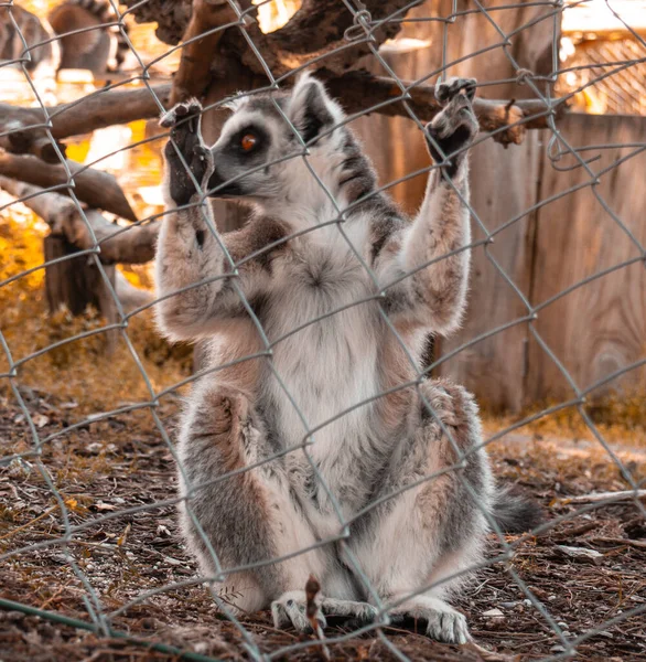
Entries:
{"type": "Polygon", "coordinates": [[[474,78],[450,78],[435,86],[435,98],[444,107],[427,125],[427,142],[433,161],[449,161],[444,170],[451,178],[457,172],[466,148],[478,131],[471,105],[475,96],[475,84],[474,78]]]}

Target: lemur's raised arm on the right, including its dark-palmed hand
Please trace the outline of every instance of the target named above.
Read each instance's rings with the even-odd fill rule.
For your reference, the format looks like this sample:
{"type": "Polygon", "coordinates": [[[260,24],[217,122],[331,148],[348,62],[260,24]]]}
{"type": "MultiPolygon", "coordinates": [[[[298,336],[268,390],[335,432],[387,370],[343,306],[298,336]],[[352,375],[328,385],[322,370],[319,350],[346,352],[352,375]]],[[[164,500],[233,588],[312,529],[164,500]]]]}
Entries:
{"type": "MultiPolygon", "coordinates": [[[[414,223],[386,242],[375,264],[385,286],[403,277],[386,289],[390,317],[438,332],[449,332],[460,323],[465,303],[470,250],[460,248],[471,243],[464,149],[477,134],[471,108],[474,90],[471,79],[438,86],[438,97],[446,105],[427,130],[445,156],[461,151],[451,157],[450,164],[431,172],[414,223]]],[[[430,141],[429,150],[435,162],[443,161],[430,141]]]]}

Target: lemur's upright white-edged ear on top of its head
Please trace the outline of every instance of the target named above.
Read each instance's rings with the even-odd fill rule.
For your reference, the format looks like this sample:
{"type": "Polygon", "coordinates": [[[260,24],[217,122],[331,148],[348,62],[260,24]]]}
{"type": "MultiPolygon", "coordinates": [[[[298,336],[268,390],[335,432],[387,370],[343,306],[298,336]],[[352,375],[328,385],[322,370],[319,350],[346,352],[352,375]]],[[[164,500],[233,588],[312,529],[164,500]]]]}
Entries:
{"type": "Polygon", "coordinates": [[[308,74],[294,85],[288,116],[304,142],[314,140],[335,124],[338,106],[327,96],[323,85],[308,74]]]}

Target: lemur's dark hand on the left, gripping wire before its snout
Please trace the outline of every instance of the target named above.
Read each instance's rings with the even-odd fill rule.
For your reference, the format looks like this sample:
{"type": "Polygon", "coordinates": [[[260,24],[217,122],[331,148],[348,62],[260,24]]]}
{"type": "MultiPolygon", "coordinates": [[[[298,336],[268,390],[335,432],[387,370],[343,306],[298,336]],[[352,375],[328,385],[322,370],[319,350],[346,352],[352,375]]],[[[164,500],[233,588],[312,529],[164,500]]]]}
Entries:
{"type": "Polygon", "coordinates": [[[171,129],[171,139],[166,142],[164,156],[169,169],[170,194],[177,205],[191,201],[197,192],[195,182],[202,189],[202,193],[205,193],[213,172],[213,154],[202,139],[201,119],[202,106],[192,99],[177,104],[160,121],[162,127],[171,129]]]}

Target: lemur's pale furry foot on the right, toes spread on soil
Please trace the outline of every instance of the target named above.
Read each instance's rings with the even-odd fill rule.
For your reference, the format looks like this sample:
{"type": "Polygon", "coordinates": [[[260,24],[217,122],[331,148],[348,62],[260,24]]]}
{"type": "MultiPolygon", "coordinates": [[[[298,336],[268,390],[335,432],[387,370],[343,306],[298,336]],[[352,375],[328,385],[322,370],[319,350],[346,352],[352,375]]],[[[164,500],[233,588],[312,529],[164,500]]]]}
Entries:
{"type": "Polygon", "coordinates": [[[443,643],[466,643],[471,634],[466,618],[443,600],[416,596],[388,611],[390,622],[399,626],[424,628],[431,639],[443,643]]]}

